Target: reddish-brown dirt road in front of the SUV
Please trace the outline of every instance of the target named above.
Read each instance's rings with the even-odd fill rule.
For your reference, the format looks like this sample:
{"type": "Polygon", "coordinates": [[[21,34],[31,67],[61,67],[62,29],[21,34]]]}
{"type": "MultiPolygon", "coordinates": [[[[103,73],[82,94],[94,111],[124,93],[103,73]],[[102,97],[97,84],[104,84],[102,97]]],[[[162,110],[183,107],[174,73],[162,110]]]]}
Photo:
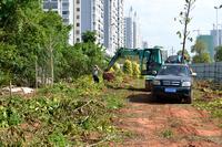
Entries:
{"type": "Polygon", "coordinates": [[[117,126],[132,135],[117,146],[222,147],[222,128],[208,112],[171,101],[157,103],[147,92],[132,92],[128,99],[117,126]]]}

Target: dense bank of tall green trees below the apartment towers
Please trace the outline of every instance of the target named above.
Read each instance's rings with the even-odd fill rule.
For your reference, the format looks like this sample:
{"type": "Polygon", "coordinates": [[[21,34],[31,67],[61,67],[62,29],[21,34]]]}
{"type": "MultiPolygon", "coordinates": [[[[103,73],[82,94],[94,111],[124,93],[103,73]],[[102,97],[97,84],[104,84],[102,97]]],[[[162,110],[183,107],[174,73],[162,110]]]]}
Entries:
{"type": "Polygon", "coordinates": [[[94,64],[103,66],[104,52],[95,32],[83,33],[84,43],[68,44],[70,25],[39,1],[0,2],[0,83],[33,86],[36,73],[43,80],[80,77],[94,64]],[[36,71],[37,67],[37,71],[36,71]]]}

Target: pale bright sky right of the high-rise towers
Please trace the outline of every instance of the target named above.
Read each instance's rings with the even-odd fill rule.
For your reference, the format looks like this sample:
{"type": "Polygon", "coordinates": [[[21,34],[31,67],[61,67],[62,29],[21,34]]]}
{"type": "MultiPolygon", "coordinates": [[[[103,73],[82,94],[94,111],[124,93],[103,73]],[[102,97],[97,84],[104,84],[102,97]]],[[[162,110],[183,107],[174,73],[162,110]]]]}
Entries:
{"type": "MultiPolygon", "coordinates": [[[[176,52],[182,48],[176,32],[181,31],[183,27],[174,21],[174,18],[178,18],[180,11],[183,10],[184,0],[124,0],[124,2],[125,15],[129,15],[131,6],[137,11],[142,40],[147,41],[149,46],[161,45],[171,52],[176,52]]],[[[196,0],[194,9],[191,11],[193,19],[189,24],[193,39],[198,35],[198,31],[194,30],[200,30],[201,34],[210,34],[213,23],[216,22],[214,7],[220,4],[222,4],[222,0],[196,0]]],[[[222,24],[222,9],[218,12],[219,23],[222,24]]],[[[194,42],[188,42],[186,49],[193,44],[194,42]]]]}

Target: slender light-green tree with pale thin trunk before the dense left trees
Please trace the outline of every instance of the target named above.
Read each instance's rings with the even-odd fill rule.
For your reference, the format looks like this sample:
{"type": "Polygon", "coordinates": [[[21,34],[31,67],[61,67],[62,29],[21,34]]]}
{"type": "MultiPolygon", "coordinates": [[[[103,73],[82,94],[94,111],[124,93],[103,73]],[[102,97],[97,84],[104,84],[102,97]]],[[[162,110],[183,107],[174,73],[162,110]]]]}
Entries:
{"type": "MultiPolygon", "coordinates": [[[[43,49],[48,52],[51,84],[54,82],[54,59],[64,46],[68,46],[69,31],[71,27],[63,25],[62,18],[52,11],[44,14],[40,21],[43,30],[43,49]]],[[[46,69],[47,70],[47,69],[46,69]]]]}

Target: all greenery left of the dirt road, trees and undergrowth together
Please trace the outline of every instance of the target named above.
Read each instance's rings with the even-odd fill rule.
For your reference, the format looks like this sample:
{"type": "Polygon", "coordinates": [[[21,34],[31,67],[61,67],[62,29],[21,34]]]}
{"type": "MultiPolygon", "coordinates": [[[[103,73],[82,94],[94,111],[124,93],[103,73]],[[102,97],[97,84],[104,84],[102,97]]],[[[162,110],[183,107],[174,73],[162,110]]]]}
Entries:
{"type": "Polygon", "coordinates": [[[121,138],[112,118],[125,95],[108,86],[122,85],[128,73],[114,65],[112,82],[92,81],[92,67],[109,61],[95,32],[70,45],[72,25],[36,0],[0,1],[0,146],[98,146],[121,138]],[[12,85],[36,93],[1,92],[12,85]]]}

